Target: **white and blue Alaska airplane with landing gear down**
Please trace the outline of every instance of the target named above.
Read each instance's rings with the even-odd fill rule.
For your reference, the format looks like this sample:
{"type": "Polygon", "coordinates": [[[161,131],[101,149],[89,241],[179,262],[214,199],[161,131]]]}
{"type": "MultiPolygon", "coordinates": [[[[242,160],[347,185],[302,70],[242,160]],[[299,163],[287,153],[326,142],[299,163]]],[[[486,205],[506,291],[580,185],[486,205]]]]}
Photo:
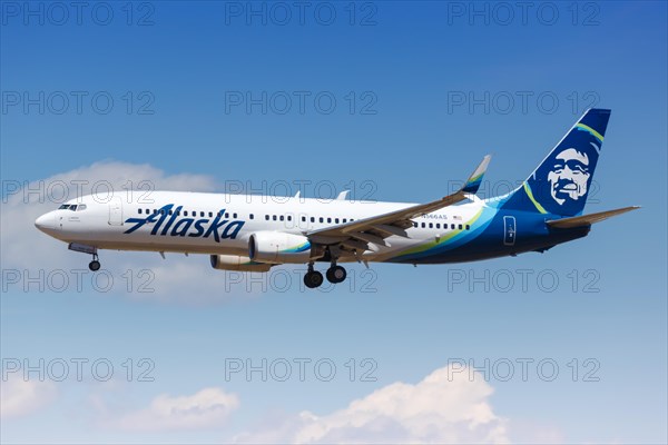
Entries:
{"type": "Polygon", "coordinates": [[[268,271],[307,265],[304,284],[324,281],[316,263],[328,263],[328,281],[346,278],[340,264],[449,264],[543,253],[587,236],[591,225],[639,208],[583,215],[610,110],[589,109],[514,190],[475,196],[490,162],[485,156],[454,194],[426,204],[322,200],[298,196],[153,191],[87,195],[35,221],[70,250],[99,249],[209,255],[214,269],[268,271]],[[127,199],[124,199],[127,198],[127,199]],[[466,201],[466,202],[463,202],[466,201]]]}

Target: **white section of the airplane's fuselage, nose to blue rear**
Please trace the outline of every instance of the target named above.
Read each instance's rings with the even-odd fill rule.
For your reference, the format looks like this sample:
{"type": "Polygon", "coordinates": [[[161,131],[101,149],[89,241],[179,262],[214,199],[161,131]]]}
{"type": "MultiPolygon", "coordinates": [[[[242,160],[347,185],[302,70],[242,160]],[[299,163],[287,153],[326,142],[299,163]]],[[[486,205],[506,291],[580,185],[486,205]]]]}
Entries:
{"type": "MultiPolygon", "coordinates": [[[[240,256],[248,255],[248,239],[254,233],[304,235],[413,206],[183,191],[121,194],[104,199],[89,195],[68,205],[77,205],[77,209],[42,215],[36,221],[38,228],[62,241],[100,249],[240,256]]],[[[415,218],[418,226],[406,230],[407,237],[389,237],[386,246],[365,251],[364,259],[382,261],[400,249],[465,229],[465,222],[481,206],[481,201],[471,202],[415,218]]]]}

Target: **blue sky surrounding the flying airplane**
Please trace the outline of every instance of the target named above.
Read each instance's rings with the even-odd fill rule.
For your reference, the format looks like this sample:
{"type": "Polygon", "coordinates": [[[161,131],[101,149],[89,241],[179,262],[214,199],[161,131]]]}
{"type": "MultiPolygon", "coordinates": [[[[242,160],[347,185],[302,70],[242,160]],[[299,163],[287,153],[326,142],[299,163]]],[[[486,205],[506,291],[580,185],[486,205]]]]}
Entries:
{"type": "MultiPolygon", "coordinates": [[[[31,4],[37,14],[22,2],[1,10],[2,369],[12,359],[79,357],[104,358],[115,372],[107,383],[89,370],[84,382],[41,383],[33,373],[24,387],[3,378],[6,394],[30,388],[37,396],[23,405],[3,399],[2,441],[295,441],[304,428],[334,425],[335,413],[354,417],[351,402],[372,403],[374,390],[397,382],[415,385],[414,403],[419,383],[449,364],[523,358],[552,360],[559,376],[546,382],[530,367],[524,382],[518,367],[509,382],[497,373],[462,383],[468,394],[493,389],[471,397],[503,429],[474,442],[667,441],[665,2],[543,2],[525,16],[504,10],[510,3],[325,2],[304,6],[303,23],[292,2],[91,3],[80,23],[71,8],[65,19],[51,3],[31,4]],[[642,209],[544,255],[352,266],[350,285],[306,293],[298,267],[272,275],[263,291],[210,269],[203,256],[105,251],[115,286],[100,291],[90,275],[81,289],[71,281],[85,256],[32,226],[57,205],[46,190],[72,179],[218,191],[230,181],[255,189],[287,182],[291,192],[294,181],[311,181],[312,197],[327,181],[336,191],[352,185],[358,197],[426,201],[491,152],[485,185],[502,190],[525,178],[588,106],[612,116],[597,201],[586,211],[642,209]],[[43,184],[42,196],[14,192],[26,181],[43,184]],[[63,291],[47,283],[59,270],[70,279],[63,291]],[[43,291],[29,283],[35,276],[43,291]],[[146,277],[153,291],[141,293],[146,277]],[[155,380],[135,373],[127,382],[128,358],[134,370],[149,358],[155,380]],[[230,358],[325,358],[337,374],[331,382],[313,372],[304,382],[258,374],[247,382],[226,378],[230,358]],[[364,358],[375,364],[374,382],[361,382],[364,358]],[[583,382],[595,366],[599,380],[583,382]],[[170,426],[151,411],[161,394],[197,405],[204,388],[215,388],[212,399],[227,411],[170,426]],[[320,423],[299,423],[304,411],[320,423]],[[267,432],[274,435],[261,435],[267,432]]],[[[444,388],[443,405],[465,406],[444,388]]],[[[442,415],[451,422],[444,425],[460,425],[442,415]]],[[[412,431],[406,422],[389,425],[412,431]]],[[[386,431],[385,439],[412,437],[386,431]]],[[[369,431],[344,433],[373,439],[369,431]]]]}

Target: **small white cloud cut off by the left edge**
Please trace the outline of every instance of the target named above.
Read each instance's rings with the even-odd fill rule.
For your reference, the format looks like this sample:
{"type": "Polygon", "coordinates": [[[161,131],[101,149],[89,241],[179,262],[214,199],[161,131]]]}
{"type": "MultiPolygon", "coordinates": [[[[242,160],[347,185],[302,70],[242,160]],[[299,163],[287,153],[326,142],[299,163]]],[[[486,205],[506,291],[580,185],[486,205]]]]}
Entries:
{"type": "Polygon", "coordinates": [[[20,417],[31,414],[56,398],[56,385],[51,382],[24,380],[21,375],[10,374],[0,382],[0,417],[20,417]]]}

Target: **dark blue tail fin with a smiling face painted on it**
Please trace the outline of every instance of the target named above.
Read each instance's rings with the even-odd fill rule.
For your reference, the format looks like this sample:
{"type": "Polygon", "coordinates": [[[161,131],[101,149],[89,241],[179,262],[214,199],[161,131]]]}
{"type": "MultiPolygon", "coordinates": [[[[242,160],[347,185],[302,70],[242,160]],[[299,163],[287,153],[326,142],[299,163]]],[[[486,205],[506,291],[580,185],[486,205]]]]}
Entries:
{"type": "Polygon", "coordinates": [[[589,109],[513,191],[503,208],[581,215],[603,144],[610,110],[589,109]]]}

